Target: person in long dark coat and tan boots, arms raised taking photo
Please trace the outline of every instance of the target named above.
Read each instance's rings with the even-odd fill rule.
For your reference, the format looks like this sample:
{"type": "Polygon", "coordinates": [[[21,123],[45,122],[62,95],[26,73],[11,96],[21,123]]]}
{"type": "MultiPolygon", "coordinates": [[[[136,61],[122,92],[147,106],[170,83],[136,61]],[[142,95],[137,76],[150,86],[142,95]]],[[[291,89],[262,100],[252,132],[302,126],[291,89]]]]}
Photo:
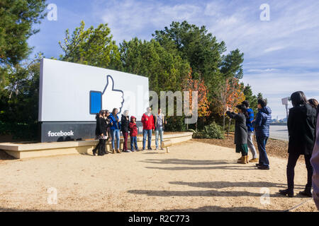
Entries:
{"type": "Polygon", "coordinates": [[[226,114],[230,119],[235,119],[235,144],[236,153],[242,153],[242,157],[237,161],[238,163],[246,164],[248,160],[248,148],[247,148],[247,126],[246,118],[249,117],[247,108],[244,105],[237,105],[238,114],[235,112],[228,112],[226,114]]]}

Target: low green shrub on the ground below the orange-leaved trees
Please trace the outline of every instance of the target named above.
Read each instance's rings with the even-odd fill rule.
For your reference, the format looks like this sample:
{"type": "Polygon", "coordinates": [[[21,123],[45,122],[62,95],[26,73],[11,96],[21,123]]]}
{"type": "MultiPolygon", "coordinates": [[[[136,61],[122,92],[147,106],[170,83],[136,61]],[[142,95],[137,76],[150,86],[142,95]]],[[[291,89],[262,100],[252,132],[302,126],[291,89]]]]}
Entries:
{"type": "Polygon", "coordinates": [[[193,131],[193,138],[215,138],[215,139],[223,139],[224,131],[223,127],[213,122],[210,125],[204,126],[203,131],[193,131]]]}

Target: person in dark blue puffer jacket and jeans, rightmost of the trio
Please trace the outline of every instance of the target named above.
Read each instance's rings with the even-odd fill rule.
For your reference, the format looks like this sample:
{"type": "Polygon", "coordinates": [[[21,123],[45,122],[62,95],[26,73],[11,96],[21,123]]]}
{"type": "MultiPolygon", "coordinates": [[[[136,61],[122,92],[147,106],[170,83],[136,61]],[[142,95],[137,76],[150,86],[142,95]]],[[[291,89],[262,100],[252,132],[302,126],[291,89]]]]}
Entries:
{"type": "Polygon", "coordinates": [[[266,152],[266,144],[269,138],[269,125],[272,121],[272,109],[267,107],[267,101],[258,100],[258,113],[254,120],[256,129],[256,140],[259,151],[259,163],[256,164],[258,169],[269,169],[269,160],[266,152]]]}

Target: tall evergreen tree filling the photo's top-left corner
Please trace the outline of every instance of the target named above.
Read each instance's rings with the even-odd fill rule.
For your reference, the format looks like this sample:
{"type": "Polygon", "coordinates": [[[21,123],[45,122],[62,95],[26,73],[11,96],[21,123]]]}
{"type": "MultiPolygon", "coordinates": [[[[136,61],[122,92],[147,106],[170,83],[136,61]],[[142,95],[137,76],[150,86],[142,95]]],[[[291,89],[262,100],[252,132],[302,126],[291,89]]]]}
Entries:
{"type": "Polygon", "coordinates": [[[32,47],[28,38],[39,30],[33,25],[45,18],[43,0],[0,1],[0,97],[9,85],[9,69],[26,59],[32,47]]]}

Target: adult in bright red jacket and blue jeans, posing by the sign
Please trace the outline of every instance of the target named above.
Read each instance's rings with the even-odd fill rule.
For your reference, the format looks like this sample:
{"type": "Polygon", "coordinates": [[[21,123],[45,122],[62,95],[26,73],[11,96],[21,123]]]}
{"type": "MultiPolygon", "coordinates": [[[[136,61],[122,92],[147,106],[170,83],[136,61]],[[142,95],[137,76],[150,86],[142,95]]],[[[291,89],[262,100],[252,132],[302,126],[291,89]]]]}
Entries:
{"type": "Polygon", "coordinates": [[[154,125],[154,117],[152,115],[152,108],[147,107],[146,112],[142,116],[142,124],[143,124],[143,149],[145,150],[145,142],[147,137],[147,149],[152,150],[151,142],[152,142],[152,130],[155,129],[154,125]]]}

